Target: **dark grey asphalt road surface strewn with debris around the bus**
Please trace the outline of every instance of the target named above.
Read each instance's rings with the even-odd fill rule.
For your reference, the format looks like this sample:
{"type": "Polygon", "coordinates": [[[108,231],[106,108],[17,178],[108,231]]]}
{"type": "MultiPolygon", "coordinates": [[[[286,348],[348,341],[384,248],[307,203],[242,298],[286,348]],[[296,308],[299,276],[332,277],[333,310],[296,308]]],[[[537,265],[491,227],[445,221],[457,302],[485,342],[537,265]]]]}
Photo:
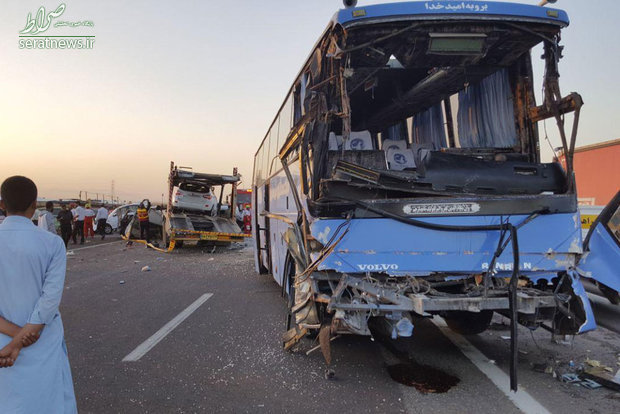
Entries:
{"type": "MultiPolygon", "coordinates": [[[[94,245],[68,256],[61,306],[82,413],[519,412],[497,385],[509,357],[501,317],[468,338],[478,360],[430,320],[414,321],[407,340],[341,337],[332,343],[336,378],[326,380],[320,351],[306,355],[312,340],[282,350],[285,300],[270,277],[254,272],[251,249],[163,254],[122,242],[94,245]],[[144,266],[151,271],[141,271],[144,266]],[[140,359],[123,361],[207,293],[212,296],[140,359]],[[406,364],[405,375],[438,380],[448,390],[425,393],[394,381],[389,370],[397,364],[406,364]],[[485,375],[486,368],[500,377],[485,375]]],[[[520,331],[519,395],[529,393],[553,413],[620,412],[620,393],[533,370],[546,364],[561,373],[569,361],[586,358],[619,368],[617,333],[601,328],[567,339],[556,343],[546,332],[520,331]]]]}

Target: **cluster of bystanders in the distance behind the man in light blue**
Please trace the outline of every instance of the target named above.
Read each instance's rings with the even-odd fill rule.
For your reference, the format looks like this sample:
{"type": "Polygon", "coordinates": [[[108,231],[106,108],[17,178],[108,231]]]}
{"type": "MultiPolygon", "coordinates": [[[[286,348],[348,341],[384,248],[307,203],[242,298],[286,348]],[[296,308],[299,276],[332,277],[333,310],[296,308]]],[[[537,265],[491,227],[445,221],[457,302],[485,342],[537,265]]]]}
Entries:
{"type": "Polygon", "coordinates": [[[101,240],[105,239],[105,227],[108,220],[108,209],[104,206],[99,207],[97,212],[91,208],[90,204],[82,206],[82,202],[78,201],[71,205],[71,209],[67,209],[66,204],[60,205],[58,216],[54,217],[54,203],[48,201],[45,203],[45,211],[38,217],[39,227],[56,234],[56,219],[60,223],[60,236],[65,242],[65,247],[69,245],[69,240],[73,240],[73,244],[77,244],[77,237],[80,237],[80,244],[84,244],[86,237],[94,237],[93,221],[97,223],[97,233],[101,235],[101,240]]]}

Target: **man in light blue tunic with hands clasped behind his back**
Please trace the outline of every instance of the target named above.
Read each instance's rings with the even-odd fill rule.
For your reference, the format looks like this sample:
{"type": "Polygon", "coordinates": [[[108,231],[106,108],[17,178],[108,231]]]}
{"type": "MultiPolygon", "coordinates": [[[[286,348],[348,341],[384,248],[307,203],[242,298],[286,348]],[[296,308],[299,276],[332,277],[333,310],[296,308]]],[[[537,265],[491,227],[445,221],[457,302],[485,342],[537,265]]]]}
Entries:
{"type": "Polygon", "coordinates": [[[0,193],[7,212],[0,225],[0,411],[77,413],[58,311],[67,264],[62,240],[32,225],[31,180],[7,178],[0,193]]]}

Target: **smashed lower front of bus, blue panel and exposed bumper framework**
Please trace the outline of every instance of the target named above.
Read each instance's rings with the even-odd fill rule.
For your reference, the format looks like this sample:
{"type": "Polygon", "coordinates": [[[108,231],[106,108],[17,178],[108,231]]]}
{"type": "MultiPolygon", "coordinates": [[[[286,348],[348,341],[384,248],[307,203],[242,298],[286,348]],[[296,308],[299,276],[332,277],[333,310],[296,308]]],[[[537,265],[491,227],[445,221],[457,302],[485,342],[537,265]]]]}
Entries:
{"type": "MultiPolygon", "coordinates": [[[[485,226],[500,222],[468,218],[485,226]]],[[[504,227],[524,220],[511,218],[504,227]]],[[[464,220],[441,220],[450,221],[464,220]]],[[[333,334],[371,335],[374,318],[395,339],[411,336],[412,317],[440,315],[454,330],[475,334],[489,326],[493,312],[512,317],[512,289],[521,325],[556,334],[595,327],[575,272],[581,243],[575,214],[536,217],[519,227],[514,247],[508,231],[457,233],[381,218],[316,220],[311,229],[321,249],[290,280],[298,329],[329,324],[333,334]]]]}

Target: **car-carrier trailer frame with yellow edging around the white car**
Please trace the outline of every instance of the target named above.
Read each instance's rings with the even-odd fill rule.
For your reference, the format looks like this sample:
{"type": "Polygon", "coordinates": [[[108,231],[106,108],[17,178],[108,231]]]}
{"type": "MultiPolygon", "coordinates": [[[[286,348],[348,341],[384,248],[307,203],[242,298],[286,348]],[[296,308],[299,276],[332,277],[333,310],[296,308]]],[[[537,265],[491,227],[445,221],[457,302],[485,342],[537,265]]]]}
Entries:
{"type": "Polygon", "coordinates": [[[175,166],[170,162],[170,174],[168,176],[168,206],[163,220],[162,237],[164,245],[171,250],[175,246],[180,247],[185,242],[199,243],[208,242],[215,245],[227,245],[234,242],[243,242],[249,235],[244,234],[237,225],[232,208],[222,209],[222,199],[225,187],[230,185],[231,205],[234,205],[237,192],[237,183],[241,177],[237,169],[233,169],[232,175],[196,173],[188,168],[175,166]],[[173,205],[173,191],[175,186],[183,182],[192,182],[209,187],[220,187],[217,214],[209,215],[207,212],[187,211],[176,208],[173,205]]]}

